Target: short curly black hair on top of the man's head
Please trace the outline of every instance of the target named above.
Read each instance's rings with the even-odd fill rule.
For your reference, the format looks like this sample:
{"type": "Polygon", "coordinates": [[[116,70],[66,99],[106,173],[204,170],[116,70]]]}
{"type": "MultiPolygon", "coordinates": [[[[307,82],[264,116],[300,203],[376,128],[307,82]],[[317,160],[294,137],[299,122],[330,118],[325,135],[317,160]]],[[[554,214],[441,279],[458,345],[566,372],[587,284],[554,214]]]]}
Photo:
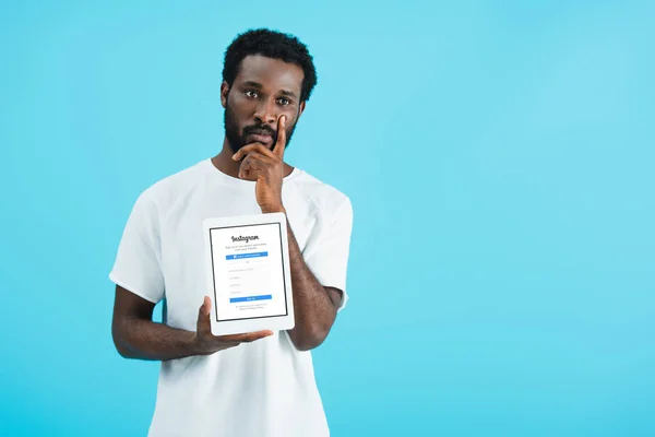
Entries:
{"type": "Polygon", "coordinates": [[[269,28],[255,28],[239,34],[225,50],[223,80],[229,86],[237,78],[241,61],[250,55],[262,55],[300,67],[305,72],[300,102],[309,101],[317,85],[317,69],[307,46],[297,37],[269,28]]]}

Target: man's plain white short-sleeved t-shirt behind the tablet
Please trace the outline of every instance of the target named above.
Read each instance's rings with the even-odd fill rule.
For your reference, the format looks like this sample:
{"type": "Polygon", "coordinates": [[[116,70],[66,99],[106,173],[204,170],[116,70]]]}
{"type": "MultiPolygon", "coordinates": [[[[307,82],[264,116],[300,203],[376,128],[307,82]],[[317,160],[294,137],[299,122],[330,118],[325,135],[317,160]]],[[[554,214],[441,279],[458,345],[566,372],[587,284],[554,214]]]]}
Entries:
{"type": "MultiPolygon", "coordinates": [[[[254,181],[202,161],[146,189],[126,225],[109,279],[158,303],[166,323],[195,331],[205,283],[202,221],[261,214],[254,181]]],[[[348,197],[298,168],[282,199],[305,262],[323,286],[344,292],[353,209],[348,197]]],[[[286,331],[253,343],[162,363],[150,436],[330,435],[310,352],[286,331]]]]}

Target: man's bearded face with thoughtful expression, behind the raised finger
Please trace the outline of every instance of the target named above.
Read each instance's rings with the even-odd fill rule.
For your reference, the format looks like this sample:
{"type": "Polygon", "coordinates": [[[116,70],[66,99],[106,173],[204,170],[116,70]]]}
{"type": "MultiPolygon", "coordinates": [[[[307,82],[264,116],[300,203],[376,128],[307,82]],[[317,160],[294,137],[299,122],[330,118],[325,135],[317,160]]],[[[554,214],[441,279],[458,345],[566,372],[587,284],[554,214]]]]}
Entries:
{"type": "Polygon", "coordinates": [[[221,87],[225,137],[233,152],[253,142],[273,150],[281,116],[286,116],[288,146],[305,109],[299,101],[303,76],[293,63],[259,55],[243,58],[233,86],[221,87]]]}

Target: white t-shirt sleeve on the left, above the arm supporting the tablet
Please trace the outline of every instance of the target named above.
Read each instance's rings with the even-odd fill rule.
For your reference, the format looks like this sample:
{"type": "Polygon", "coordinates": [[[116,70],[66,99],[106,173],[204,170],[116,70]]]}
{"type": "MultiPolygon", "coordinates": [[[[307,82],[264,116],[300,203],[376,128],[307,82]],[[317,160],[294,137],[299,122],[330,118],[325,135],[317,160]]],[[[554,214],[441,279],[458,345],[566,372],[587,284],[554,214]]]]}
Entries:
{"type": "Polygon", "coordinates": [[[164,298],[164,274],[156,204],[142,193],[128,218],[109,279],[157,304],[164,298]]]}

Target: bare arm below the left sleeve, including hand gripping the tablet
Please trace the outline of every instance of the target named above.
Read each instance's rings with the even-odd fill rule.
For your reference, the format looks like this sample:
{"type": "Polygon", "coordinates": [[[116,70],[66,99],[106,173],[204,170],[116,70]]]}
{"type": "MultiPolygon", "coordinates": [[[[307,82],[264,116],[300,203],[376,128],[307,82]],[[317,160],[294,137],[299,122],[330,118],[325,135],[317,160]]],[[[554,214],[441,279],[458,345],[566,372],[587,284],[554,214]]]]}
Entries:
{"type": "Polygon", "coordinates": [[[273,334],[271,331],[214,336],[211,333],[210,298],[198,314],[196,332],[153,321],[155,304],[116,286],[111,335],[118,353],[126,358],[167,361],[191,355],[210,355],[273,334]]]}

